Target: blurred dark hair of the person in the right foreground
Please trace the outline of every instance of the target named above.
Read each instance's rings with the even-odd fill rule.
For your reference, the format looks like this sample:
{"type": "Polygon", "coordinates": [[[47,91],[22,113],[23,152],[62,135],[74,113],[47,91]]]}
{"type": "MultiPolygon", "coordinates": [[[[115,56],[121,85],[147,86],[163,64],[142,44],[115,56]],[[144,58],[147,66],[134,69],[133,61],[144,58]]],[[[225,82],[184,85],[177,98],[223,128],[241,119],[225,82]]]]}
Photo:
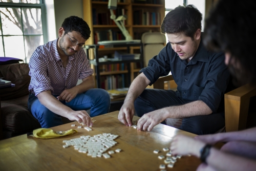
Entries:
{"type": "Polygon", "coordinates": [[[204,45],[209,50],[230,53],[241,66],[230,67],[243,83],[256,80],[255,21],[255,0],[220,0],[205,20],[204,45]]]}

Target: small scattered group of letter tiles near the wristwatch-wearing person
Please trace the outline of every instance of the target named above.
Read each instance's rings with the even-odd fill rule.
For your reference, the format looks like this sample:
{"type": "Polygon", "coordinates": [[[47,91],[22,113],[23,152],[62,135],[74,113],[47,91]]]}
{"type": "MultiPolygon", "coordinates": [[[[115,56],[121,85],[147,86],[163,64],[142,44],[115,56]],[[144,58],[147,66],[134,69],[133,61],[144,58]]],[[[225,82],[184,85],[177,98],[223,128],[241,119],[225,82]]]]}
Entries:
{"type": "MultiPolygon", "coordinates": [[[[163,151],[167,152],[167,151],[169,151],[169,148],[165,147],[165,148],[163,148],[163,151]]],[[[160,151],[158,149],[154,150],[155,154],[158,154],[159,152],[160,151]]],[[[171,151],[166,153],[166,159],[165,159],[164,155],[158,156],[158,158],[160,160],[165,159],[164,163],[167,164],[167,167],[170,167],[170,168],[173,168],[174,167],[174,163],[177,161],[177,158],[180,159],[181,157],[182,157],[181,155],[172,156],[172,152],[171,151]]],[[[160,164],[159,168],[160,169],[165,169],[165,164],[160,164]]]]}

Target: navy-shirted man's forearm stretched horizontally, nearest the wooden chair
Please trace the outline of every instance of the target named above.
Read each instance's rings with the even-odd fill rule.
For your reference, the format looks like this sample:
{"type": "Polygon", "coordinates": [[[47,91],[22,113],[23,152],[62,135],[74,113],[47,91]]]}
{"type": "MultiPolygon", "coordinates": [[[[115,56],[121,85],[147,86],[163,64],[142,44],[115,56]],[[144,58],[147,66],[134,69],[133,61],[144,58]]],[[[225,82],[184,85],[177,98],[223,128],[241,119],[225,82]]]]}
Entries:
{"type": "Polygon", "coordinates": [[[211,109],[203,101],[197,100],[183,105],[163,108],[167,118],[186,118],[198,115],[209,115],[211,109]]]}

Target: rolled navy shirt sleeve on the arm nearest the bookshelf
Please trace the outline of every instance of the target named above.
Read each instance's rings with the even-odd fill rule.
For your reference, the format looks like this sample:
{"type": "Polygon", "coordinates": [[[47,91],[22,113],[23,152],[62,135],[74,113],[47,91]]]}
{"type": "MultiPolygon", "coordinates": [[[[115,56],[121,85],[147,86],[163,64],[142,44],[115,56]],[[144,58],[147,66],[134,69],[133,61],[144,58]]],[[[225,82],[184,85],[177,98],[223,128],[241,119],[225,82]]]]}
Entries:
{"type": "Polygon", "coordinates": [[[168,44],[159,52],[157,56],[154,56],[148,61],[148,65],[142,68],[139,72],[143,74],[150,80],[150,86],[160,76],[166,76],[170,72],[169,54],[168,54],[168,44]]]}

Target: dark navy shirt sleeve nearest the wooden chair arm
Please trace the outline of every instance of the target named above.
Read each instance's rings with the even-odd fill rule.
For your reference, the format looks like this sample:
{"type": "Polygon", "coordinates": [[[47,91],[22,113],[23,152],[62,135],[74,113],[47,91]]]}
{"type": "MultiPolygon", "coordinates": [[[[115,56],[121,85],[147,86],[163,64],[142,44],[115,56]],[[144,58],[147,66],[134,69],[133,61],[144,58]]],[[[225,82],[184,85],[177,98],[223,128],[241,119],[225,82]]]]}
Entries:
{"type": "Polygon", "coordinates": [[[213,113],[216,113],[229,81],[229,71],[225,65],[223,53],[212,57],[207,71],[206,85],[198,100],[206,103],[213,113]]]}

